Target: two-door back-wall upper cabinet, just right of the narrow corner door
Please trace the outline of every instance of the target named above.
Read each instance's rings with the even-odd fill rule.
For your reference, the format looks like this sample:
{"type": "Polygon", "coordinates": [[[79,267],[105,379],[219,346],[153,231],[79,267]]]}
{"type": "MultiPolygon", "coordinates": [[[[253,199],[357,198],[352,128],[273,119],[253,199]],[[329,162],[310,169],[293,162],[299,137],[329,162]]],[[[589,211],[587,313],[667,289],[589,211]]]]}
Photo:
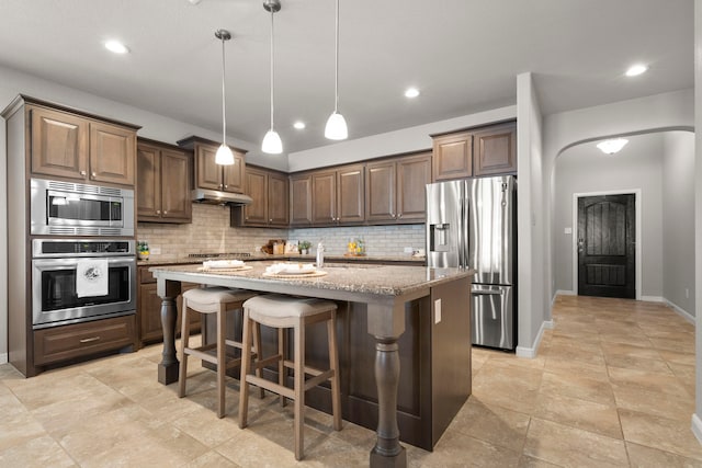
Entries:
{"type": "Polygon", "coordinates": [[[312,173],[313,225],[353,225],[365,221],[364,164],[312,173]]]}

